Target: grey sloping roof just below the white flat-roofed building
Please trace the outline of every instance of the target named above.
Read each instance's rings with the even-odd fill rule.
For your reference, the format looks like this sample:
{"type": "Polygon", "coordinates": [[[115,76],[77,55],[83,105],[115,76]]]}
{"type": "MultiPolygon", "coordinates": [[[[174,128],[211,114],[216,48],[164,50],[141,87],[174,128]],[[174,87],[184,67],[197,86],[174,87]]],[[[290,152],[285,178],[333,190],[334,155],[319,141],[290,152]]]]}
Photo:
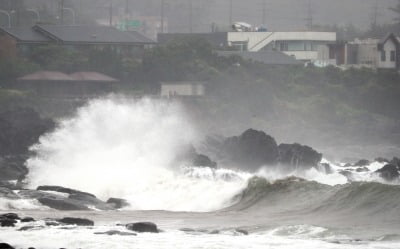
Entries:
{"type": "Polygon", "coordinates": [[[269,65],[299,65],[303,64],[297,61],[292,56],[284,54],[280,51],[259,51],[259,52],[249,52],[249,51],[218,51],[220,56],[232,56],[238,55],[245,60],[252,60],[261,62],[269,65]]]}

